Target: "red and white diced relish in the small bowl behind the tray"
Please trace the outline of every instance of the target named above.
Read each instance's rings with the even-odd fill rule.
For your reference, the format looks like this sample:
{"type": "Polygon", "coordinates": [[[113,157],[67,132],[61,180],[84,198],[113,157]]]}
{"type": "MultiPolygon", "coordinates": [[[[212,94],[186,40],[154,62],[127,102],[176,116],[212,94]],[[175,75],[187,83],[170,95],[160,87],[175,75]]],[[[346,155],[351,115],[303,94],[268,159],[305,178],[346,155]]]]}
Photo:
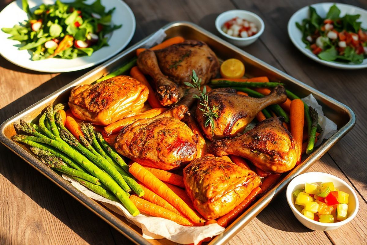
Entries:
{"type": "Polygon", "coordinates": [[[222,31],[233,37],[250,37],[258,33],[258,27],[251,21],[235,17],[224,23],[222,31]]]}

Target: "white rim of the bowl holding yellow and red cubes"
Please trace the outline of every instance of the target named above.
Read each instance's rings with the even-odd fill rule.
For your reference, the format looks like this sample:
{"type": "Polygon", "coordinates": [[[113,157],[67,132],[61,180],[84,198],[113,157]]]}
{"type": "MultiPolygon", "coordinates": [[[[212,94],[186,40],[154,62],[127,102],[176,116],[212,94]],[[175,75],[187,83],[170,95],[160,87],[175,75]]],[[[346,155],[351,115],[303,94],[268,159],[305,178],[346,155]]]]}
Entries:
{"type": "MultiPolygon", "coordinates": [[[[322,176],[321,176],[321,179],[322,179],[322,176]]],[[[297,184],[294,184],[294,185],[297,185],[297,184]]],[[[339,177],[333,175],[333,174],[328,174],[328,173],[323,173],[323,172],[307,172],[307,173],[303,173],[303,174],[299,174],[297,177],[295,177],[294,179],[292,179],[290,181],[290,183],[288,184],[287,186],[287,190],[286,190],[286,199],[287,199],[287,202],[288,202],[288,205],[290,206],[290,208],[292,209],[293,213],[294,212],[297,212],[299,214],[300,217],[302,217],[302,219],[312,223],[312,224],[316,224],[318,226],[323,226],[323,227],[339,227],[339,226],[342,226],[346,223],[348,223],[349,221],[351,221],[352,219],[354,219],[354,217],[357,215],[357,212],[358,212],[358,209],[359,209],[359,201],[358,201],[358,197],[357,197],[357,194],[356,192],[353,190],[352,187],[350,187],[350,185],[348,183],[346,183],[344,180],[340,179],[339,177]],[[356,208],[354,209],[353,213],[348,217],[346,218],[345,220],[342,220],[342,221],[339,221],[339,222],[336,222],[336,223],[321,223],[319,221],[315,221],[315,220],[311,220],[311,219],[308,219],[306,218],[305,216],[303,216],[294,206],[294,203],[292,202],[292,191],[290,186],[291,184],[294,184],[294,183],[297,183],[297,184],[304,184],[304,183],[301,183],[300,181],[298,181],[298,179],[301,179],[300,176],[304,176],[304,175],[312,175],[312,174],[320,174],[322,176],[328,176],[328,177],[332,177],[332,178],[335,178],[335,179],[338,179],[345,187],[347,187],[349,189],[349,191],[352,193],[353,195],[353,198],[355,199],[355,202],[356,202],[356,208]]],[[[294,216],[295,213],[294,213],[294,216]]]]}

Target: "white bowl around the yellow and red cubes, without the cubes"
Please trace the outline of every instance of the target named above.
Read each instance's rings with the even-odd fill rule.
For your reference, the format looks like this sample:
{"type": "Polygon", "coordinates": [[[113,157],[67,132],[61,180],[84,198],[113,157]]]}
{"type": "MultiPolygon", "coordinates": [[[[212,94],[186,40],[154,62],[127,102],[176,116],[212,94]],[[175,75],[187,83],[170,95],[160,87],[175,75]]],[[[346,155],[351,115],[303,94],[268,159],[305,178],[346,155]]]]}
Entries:
{"type": "Polygon", "coordinates": [[[309,172],[298,175],[288,184],[286,195],[288,205],[290,206],[294,216],[296,216],[299,222],[301,222],[304,226],[314,231],[330,231],[341,227],[342,225],[352,220],[358,212],[359,202],[357,195],[352,187],[350,187],[344,180],[339,179],[338,177],[328,173],[309,172]],[[308,219],[304,215],[302,215],[302,213],[295,208],[293,192],[305,188],[306,182],[317,184],[320,184],[321,182],[333,182],[334,186],[340,191],[348,193],[348,218],[343,221],[338,221],[336,223],[321,223],[319,221],[308,219]]]}

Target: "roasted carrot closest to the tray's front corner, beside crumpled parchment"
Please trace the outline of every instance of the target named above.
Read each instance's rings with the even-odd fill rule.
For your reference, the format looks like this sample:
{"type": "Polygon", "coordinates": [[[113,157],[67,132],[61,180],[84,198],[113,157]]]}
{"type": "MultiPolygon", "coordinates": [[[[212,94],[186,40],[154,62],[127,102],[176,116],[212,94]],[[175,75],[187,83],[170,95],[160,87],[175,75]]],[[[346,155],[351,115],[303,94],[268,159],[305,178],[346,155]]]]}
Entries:
{"type": "Polygon", "coordinates": [[[155,203],[146,201],[138,197],[137,195],[131,195],[130,200],[142,213],[146,213],[147,215],[155,217],[169,219],[183,226],[193,226],[193,223],[190,220],[182,217],[181,215],[178,215],[177,213],[174,213],[168,209],[162,208],[155,203]]]}

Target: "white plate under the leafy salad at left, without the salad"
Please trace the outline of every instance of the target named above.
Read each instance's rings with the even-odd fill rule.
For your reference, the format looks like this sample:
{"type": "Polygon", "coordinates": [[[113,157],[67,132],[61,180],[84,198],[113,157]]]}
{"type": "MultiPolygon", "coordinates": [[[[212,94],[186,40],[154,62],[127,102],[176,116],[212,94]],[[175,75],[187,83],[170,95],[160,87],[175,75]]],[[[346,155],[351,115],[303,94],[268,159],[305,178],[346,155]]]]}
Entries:
{"type": "MultiPolygon", "coordinates": [[[[62,2],[73,2],[74,0],[62,0],[62,2]]],[[[95,0],[88,0],[86,3],[91,4],[95,0]]],[[[10,3],[3,11],[0,12],[0,28],[11,28],[18,22],[27,19],[27,14],[22,10],[22,1],[17,0],[10,3]]],[[[28,0],[31,10],[33,7],[42,3],[53,4],[55,0],[28,0]]],[[[8,61],[15,65],[26,69],[40,72],[70,72],[88,68],[99,64],[108,58],[119,53],[130,42],[135,32],[135,17],[129,6],[121,0],[101,0],[106,11],[115,7],[112,14],[112,23],[115,25],[122,24],[120,29],[114,30],[108,40],[109,46],[93,52],[91,56],[78,57],[72,60],[50,58],[46,60],[32,61],[28,50],[18,50],[14,45],[19,44],[18,41],[7,39],[9,34],[0,30],[0,54],[8,61]]]]}

